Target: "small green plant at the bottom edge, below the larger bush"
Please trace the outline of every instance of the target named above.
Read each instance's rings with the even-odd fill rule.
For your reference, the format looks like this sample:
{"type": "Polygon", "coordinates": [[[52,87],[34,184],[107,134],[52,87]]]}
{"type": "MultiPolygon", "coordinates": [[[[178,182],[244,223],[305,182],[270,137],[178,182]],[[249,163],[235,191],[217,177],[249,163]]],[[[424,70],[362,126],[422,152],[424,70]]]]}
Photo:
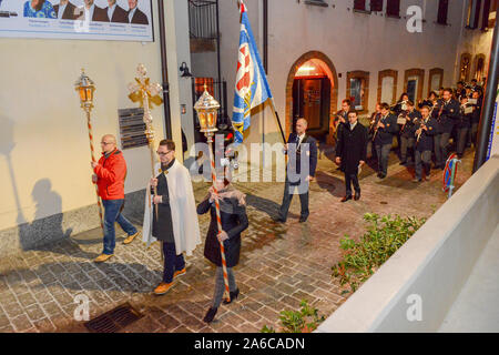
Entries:
{"type": "MultiPolygon", "coordinates": [[[[282,333],[312,333],[324,322],[325,317],[319,316],[318,310],[310,307],[306,300],[302,300],[299,306],[299,311],[281,312],[282,333]]],[[[273,327],[266,325],[261,332],[276,333],[273,327]]]]}

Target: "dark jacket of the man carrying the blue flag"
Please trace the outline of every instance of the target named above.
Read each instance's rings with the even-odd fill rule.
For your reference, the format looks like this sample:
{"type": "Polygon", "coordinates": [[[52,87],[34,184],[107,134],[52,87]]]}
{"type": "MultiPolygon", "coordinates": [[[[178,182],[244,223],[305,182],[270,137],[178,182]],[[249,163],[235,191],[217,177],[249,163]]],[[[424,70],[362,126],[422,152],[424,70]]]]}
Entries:
{"type": "MultiPolygon", "coordinates": [[[[308,156],[308,174],[310,176],[315,176],[315,170],[317,168],[317,141],[313,138],[309,136],[305,133],[305,138],[302,141],[302,144],[299,144],[299,146],[296,146],[297,143],[299,142],[299,138],[298,135],[296,135],[296,133],[291,133],[288,139],[287,139],[287,143],[289,145],[289,151],[295,151],[296,152],[296,159],[289,159],[287,161],[287,173],[293,173],[293,174],[302,174],[302,155],[303,156],[308,156]],[[308,150],[304,150],[305,149],[305,143],[308,144],[308,150]]],[[[288,152],[286,152],[287,154],[288,152]]],[[[288,178],[292,178],[288,175],[288,178]]],[[[296,184],[298,185],[302,179],[306,179],[306,176],[299,176],[299,179],[289,179],[289,182],[292,185],[296,184]]]]}

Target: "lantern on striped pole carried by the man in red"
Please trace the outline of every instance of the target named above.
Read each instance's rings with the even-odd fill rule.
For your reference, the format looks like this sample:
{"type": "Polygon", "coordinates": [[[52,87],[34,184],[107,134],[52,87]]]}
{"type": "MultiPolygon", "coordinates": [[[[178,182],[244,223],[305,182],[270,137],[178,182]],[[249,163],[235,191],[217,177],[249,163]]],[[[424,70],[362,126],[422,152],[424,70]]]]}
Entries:
{"type": "MultiPolygon", "coordinates": [[[[92,162],[95,162],[95,154],[93,148],[93,134],[92,134],[92,122],[90,120],[90,113],[93,109],[93,92],[95,91],[95,84],[93,81],[85,74],[84,69],[81,70],[81,75],[74,83],[74,90],[78,91],[80,95],[80,104],[83,111],[86,113],[86,126],[89,128],[89,141],[90,141],[90,155],[92,162]]],[[[95,186],[95,195],[98,200],[99,206],[99,219],[101,222],[101,229],[104,230],[103,217],[102,217],[102,205],[101,199],[99,197],[99,190],[96,183],[95,186]]]]}

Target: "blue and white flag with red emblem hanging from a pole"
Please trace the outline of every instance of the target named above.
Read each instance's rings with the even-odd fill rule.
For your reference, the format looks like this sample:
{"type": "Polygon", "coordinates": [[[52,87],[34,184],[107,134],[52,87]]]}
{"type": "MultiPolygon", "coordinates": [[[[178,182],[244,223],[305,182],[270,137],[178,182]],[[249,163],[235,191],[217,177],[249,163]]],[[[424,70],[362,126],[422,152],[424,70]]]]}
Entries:
{"type": "Polygon", "coordinates": [[[243,132],[249,128],[251,111],[268,99],[272,99],[271,88],[259,59],[246,7],[241,1],[240,50],[232,116],[235,145],[243,142],[243,132]]]}

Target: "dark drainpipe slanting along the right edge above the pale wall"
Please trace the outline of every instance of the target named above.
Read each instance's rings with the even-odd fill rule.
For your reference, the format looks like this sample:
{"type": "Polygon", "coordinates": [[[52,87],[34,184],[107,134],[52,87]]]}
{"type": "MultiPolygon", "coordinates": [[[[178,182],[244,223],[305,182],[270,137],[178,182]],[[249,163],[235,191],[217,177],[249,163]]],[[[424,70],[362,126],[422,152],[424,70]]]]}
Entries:
{"type": "Polygon", "coordinates": [[[473,173],[480,169],[487,160],[490,131],[492,129],[492,115],[496,106],[497,85],[499,78],[499,19],[496,18],[492,48],[490,50],[489,72],[487,74],[483,106],[481,109],[480,125],[478,126],[477,151],[475,152],[473,173]]]}

